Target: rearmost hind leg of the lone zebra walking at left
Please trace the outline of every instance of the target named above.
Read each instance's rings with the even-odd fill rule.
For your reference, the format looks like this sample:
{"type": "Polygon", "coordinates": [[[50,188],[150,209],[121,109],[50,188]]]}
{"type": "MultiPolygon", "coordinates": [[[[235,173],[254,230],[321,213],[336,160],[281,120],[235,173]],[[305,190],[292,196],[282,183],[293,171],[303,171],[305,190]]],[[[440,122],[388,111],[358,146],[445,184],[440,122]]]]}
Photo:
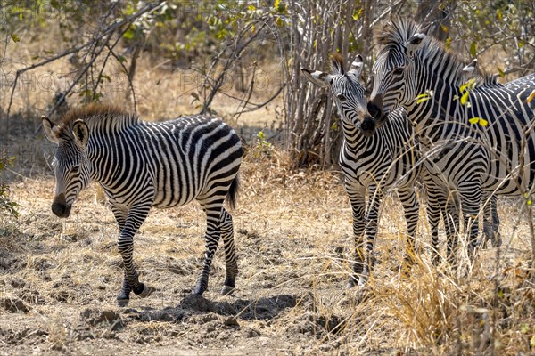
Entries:
{"type": "Polygon", "coordinates": [[[231,295],[235,290],[235,280],[238,274],[238,263],[234,242],[234,226],[232,216],[225,208],[221,213],[221,237],[225,243],[226,278],[225,286],[221,290],[221,295],[231,295]]]}

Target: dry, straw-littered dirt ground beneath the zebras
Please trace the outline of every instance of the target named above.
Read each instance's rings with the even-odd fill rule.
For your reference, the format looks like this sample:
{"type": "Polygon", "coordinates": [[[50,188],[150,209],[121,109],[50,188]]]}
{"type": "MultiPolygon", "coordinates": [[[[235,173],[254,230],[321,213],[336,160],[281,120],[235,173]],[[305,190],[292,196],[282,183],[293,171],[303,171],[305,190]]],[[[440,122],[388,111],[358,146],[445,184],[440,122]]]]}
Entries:
{"type": "MultiPolygon", "coordinates": [[[[157,292],[145,299],[133,295],[124,308],[115,301],[122,281],[118,228],[108,207],[95,201],[95,185],[61,220],[50,210],[50,172],[13,180],[20,216],[4,216],[0,227],[0,354],[413,355],[450,354],[456,343],[461,350],[473,350],[474,340],[482,343],[489,334],[484,328],[465,335],[464,326],[454,327],[481,325],[474,308],[490,307],[496,248],[481,253],[468,277],[448,279],[429,266],[429,234],[421,223],[423,262],[401,278],[405,224],[397,199],[389,197],[374,276],[368,287],[345,290],[351,214],[340,175],[292,171],[284,159],[253,147],[243,163],[243,188],[232,213],[240,266],[234,295],[218,293],[225,275],[221,248],[209,291],[190,294],[201,271],[205,224],[193,203],[152,210],[136,235],[135,263],[142,281],[157,292]],[[431,311],[444,316],[433,319],[431,311]],[[446,331],[437,336],[440,330],[446,331]]],[[[514,220],[516,209],[500,203],[505,256],[498,275],[513,282],[522,277],[530,248],[527,223],[514,220]]],[[[513,282],[503,284],[519,286],[513,282]]],[[[510,323],[513,331],[492,324],[498,350],[530,352],[532,309],[528,304],[516,311],[525,319],[510,323]]],[[[485,345],[481,350],[489,350],[485,345]]]]}

